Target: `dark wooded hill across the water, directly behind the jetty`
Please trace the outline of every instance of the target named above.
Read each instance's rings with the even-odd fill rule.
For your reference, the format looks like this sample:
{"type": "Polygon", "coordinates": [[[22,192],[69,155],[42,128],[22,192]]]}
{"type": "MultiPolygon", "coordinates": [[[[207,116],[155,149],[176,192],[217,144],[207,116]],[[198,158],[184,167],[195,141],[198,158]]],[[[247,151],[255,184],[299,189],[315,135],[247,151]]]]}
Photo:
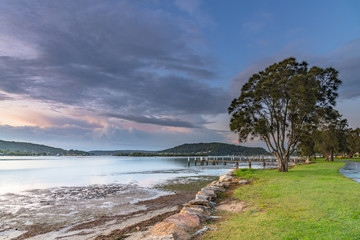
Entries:
{"type": "Polygon", "coordinates": [[[226,143],[191,143],[159,151],[160,154],[194,154],[194,155],[270,155],[261,147],[244,147],[226,143]]]}

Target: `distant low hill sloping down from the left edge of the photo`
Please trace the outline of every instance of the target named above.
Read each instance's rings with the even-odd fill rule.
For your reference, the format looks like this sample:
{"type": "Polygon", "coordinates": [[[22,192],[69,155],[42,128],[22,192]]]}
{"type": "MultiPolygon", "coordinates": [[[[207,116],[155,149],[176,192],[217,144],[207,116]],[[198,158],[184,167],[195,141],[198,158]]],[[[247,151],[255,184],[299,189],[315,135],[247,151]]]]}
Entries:
{"type": "Polygon", "coordinates": [[[41,144],[27,142],[9,142],[0,140],[0,154],[2,155],[91,155],[79,150],[64,150],[41,144]]]}

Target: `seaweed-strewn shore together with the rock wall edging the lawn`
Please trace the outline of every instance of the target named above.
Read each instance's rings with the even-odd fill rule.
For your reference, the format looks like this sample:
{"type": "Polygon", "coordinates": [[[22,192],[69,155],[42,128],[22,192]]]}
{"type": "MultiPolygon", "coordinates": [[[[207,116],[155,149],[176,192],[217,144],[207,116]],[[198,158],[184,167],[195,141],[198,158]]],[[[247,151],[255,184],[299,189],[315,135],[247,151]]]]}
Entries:
{"type": "MultiPolygon", "coordinates": [[[[126,203],[125,195],[131,193],[144,197],[145,189],[115,184],[33,190],[29,192],[29,196],[14,196],[14,201],[22,199],[24,204],[16,213],[9,212],[7,217],[2,217],[9,223],[7,225],[10,228],[6,228],[3,221],[0,224],[3,225],[0,238],[189,239],[201,224],[211,218],[218,193],[224,192],[230,185],[239,184],[239,181],[234,180],[233,171],[210,184],[207,184],[211,181],[210,178],[196,178],[188,182],[180,179],[167,183],[166,188],[174,188],[171,194],[136,203],[126,203]],[[37,197],[34,198],[34,195],[37,197]],[[74,215],[75,210],[81,215],[74,215]],[[45,220],[47,222],[44,222],[45,220]],[[9,221],[13,223],[13,227],[9,221]],[[41,222],[43,223],[40,224],[41,222]],[[169,229],[178,232],[171,232],[169,229]],[[170,236],[172,238],[169,238],[170,236]]],[[[159,190],[161,191],[161,188],[159,190]]],[[[3,203],[11,204],[5,199],[3,203]]],[[[6,209],[6,206],[4,207],[6,209]]]]}

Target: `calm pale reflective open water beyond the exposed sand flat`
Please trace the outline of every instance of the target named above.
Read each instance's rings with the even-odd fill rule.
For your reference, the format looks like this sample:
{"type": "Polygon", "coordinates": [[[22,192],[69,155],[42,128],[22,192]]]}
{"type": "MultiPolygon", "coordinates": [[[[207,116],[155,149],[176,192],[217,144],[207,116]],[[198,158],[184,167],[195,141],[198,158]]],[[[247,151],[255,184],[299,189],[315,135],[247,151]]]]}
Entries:
{"type": "Polygon", "coordinates": [[[175,177],[221,175],[232,165],[187,167],[187,158],[169,157],[0,157],[0,194],[92,184],[142,187],[175,177]]]}

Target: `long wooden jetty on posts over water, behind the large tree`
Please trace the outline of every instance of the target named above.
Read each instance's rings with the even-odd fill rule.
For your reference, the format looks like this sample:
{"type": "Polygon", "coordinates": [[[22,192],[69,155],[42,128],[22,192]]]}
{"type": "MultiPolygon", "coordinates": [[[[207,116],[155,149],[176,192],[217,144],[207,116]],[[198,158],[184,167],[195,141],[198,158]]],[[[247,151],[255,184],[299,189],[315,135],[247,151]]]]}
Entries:
{"type": "MultiPolygon", "coordinates": [[[[276,158],[269,156],[214,156],[214,157],[188,157],[188,167],[191,166],[191,162],[194,163],[194,166],[197,163],[200,166],[204,165],[226,165],[227,163],[235,164],[236,168],[239,167],[239,163],[248,163],[249,168],[251,168],[252,163],[261,163],[263,167],[266,167],[268,163],[277,163],[276,158]]],[[[305,162],[305,159],[299,157],[290,157],[289,162],[305,162]]]]}

